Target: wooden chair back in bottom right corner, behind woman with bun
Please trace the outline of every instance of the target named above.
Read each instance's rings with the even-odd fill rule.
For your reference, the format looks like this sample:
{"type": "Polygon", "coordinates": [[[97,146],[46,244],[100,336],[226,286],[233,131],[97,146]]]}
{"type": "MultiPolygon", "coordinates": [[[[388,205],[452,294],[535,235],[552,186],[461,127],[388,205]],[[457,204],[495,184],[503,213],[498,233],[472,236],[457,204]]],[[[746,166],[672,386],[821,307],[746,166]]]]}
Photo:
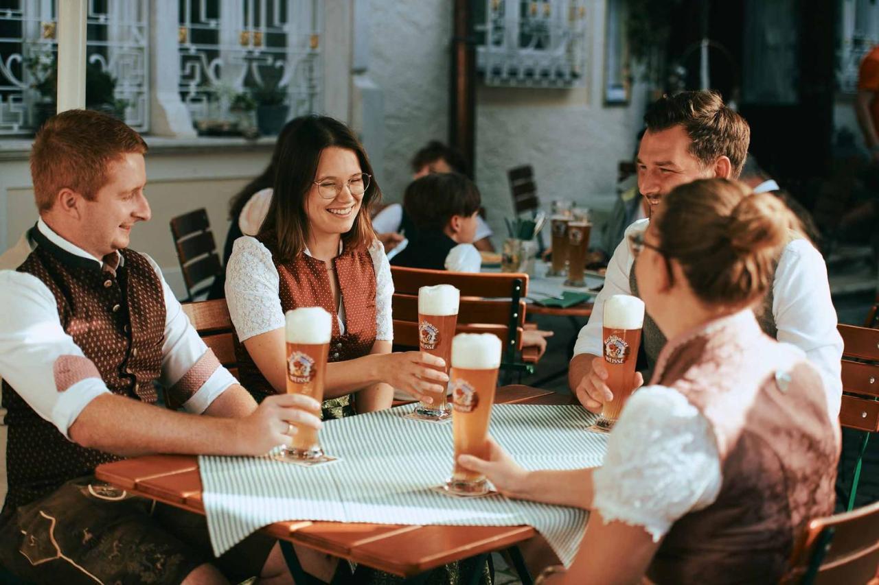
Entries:
{"type": "Polygon", "coordinates": [[[794,546],[790,567],[782,585],[879,582],[879,502],[812,520],[794,546]]]}

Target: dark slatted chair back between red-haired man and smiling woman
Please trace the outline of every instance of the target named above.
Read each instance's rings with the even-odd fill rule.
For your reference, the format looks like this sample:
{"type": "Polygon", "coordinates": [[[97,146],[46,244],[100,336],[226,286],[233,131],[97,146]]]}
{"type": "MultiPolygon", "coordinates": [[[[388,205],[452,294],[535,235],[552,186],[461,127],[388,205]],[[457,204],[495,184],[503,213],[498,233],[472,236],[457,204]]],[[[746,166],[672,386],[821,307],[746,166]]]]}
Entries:
{"type": "Polygon", "coordinates": [[[195,300],[200,294],[207,293],[214,278],[222,272],[207,210],[202,207],[171,219],[171,235],[183,271],[186,300],[195,300]],[[196,288],[199,285],[200,288],[196,288]]]}

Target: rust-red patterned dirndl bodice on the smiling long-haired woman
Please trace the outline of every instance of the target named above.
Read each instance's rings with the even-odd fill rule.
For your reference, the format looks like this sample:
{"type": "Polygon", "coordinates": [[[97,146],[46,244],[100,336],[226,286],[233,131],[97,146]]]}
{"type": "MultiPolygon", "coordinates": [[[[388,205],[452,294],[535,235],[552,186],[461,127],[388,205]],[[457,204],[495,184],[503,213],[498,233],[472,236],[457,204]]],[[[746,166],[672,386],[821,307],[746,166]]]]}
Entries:
{"type": "MultiPolygon", "coordinates": [[[[332,298],[330,274],[326,264],[300,253],[292,262],[281,262],[272,245],[272,235],[259,238],[270,252],[280,280],[280,306],[286,313],[297,307],[323,307],[329,314],[338,313],[332,298]]],[[[375,269],[366,248],[344,250],[333,259],[338,285],[345,306],[345,334],[340,333],[338,320],[332,320],[330,343],[331,362],[361,358],[375,343],[375,269]]],[[[275,394],[272,385],[259,372],[243,343],[236,343],[238,374],[241,383],[261,402],[275,394]]],[[[323,401],[323,418],[353,415],[352,395],[323,401]]]]}

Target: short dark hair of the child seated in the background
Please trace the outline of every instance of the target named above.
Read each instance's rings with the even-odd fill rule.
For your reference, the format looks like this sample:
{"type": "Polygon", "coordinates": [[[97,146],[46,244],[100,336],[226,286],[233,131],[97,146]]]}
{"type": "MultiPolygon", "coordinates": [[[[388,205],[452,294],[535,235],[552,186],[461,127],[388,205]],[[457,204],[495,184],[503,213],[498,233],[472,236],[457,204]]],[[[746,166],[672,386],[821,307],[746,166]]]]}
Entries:
{"type": "Polygon", "coordinates": [[[460,173],[435,173],[412,181],[403,193],[403,208],[419,230],[442,230],[454,215],[479,211],[479,189],[460,173]]]}

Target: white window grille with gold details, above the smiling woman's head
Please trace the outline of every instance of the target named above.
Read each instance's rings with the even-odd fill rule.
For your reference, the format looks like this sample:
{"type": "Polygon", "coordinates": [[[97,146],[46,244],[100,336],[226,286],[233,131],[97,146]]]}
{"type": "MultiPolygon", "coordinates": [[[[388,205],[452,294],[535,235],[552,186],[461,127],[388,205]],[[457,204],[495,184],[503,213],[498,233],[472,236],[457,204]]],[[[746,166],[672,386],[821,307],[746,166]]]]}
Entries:
{"type": "Polygon", "coordinates": [[[180,96],[197,125],[227,119],[242,103],[283,101],[288,117],[317,109],[322,0],[180,0],[179,7],[180,96]]]}

